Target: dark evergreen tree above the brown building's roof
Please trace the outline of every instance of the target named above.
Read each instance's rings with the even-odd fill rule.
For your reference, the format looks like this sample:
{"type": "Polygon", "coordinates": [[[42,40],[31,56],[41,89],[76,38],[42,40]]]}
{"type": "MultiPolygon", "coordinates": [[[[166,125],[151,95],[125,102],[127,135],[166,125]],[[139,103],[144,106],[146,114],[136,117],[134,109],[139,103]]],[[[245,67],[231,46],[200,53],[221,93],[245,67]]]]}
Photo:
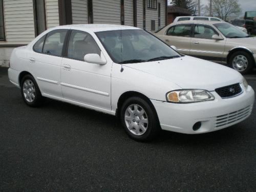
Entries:
{"type": "Polygon", "coordinates": [[[198,0],[170,0],[170,5],[185,8],[196,15],[198,11],[198,0]]]}

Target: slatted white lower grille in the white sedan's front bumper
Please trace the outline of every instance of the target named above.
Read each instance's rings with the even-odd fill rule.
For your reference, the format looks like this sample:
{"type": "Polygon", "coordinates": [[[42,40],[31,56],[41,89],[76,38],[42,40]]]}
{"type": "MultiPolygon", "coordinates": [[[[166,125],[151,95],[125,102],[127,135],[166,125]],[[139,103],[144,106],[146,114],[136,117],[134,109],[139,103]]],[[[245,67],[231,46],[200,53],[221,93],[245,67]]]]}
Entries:
{"type": "Polygon", "coordinates": [[[239,111],[217,116],[215,127],[219,128],[230,124],[236,124],[236,122],[247,118],[251,114],[252,106],[253,105],[250,105],[239,111]]]}

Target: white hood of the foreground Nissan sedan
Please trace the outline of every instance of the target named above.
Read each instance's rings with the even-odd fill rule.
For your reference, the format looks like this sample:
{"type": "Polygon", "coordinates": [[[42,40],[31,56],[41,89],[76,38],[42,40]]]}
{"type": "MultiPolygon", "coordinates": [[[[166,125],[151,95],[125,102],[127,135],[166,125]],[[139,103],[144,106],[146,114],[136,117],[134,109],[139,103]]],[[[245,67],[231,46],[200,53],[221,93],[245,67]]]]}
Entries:
{"type": "Polygon", "coordinates": [[[173,82],[182,89],[214,91],[216,88],[242,82],[242,75],[237,71],[190,56],[124,66],[173,82]]]}

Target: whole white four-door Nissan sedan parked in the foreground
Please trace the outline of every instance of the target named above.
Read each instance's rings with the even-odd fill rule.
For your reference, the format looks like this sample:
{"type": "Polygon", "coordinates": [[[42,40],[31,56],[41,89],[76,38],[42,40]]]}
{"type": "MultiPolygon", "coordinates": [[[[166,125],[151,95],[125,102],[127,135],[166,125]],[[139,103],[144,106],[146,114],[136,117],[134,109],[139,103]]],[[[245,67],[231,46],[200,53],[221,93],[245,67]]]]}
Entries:
{"type": "Polygon", "coordinates": [[[179,54],[128,26],[49,29],[14,49],[8,74],[27,105],[48,97],[116,115],[140,141],[161,129],[223,129],[249,117],[254,102],[254,91],[237,71],[179,54]]]}

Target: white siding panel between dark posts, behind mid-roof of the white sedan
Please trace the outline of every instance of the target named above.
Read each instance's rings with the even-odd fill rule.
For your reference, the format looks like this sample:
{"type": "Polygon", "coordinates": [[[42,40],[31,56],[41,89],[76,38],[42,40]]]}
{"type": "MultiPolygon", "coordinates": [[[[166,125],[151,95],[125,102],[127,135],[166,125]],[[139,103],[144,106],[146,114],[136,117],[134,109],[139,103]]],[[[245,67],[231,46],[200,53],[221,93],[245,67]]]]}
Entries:
{"type": "Polygon", "coordinates": [[[118,0],[94,0],[93,1],[94,24],[120,25],[120,1],[118,0]]]}

